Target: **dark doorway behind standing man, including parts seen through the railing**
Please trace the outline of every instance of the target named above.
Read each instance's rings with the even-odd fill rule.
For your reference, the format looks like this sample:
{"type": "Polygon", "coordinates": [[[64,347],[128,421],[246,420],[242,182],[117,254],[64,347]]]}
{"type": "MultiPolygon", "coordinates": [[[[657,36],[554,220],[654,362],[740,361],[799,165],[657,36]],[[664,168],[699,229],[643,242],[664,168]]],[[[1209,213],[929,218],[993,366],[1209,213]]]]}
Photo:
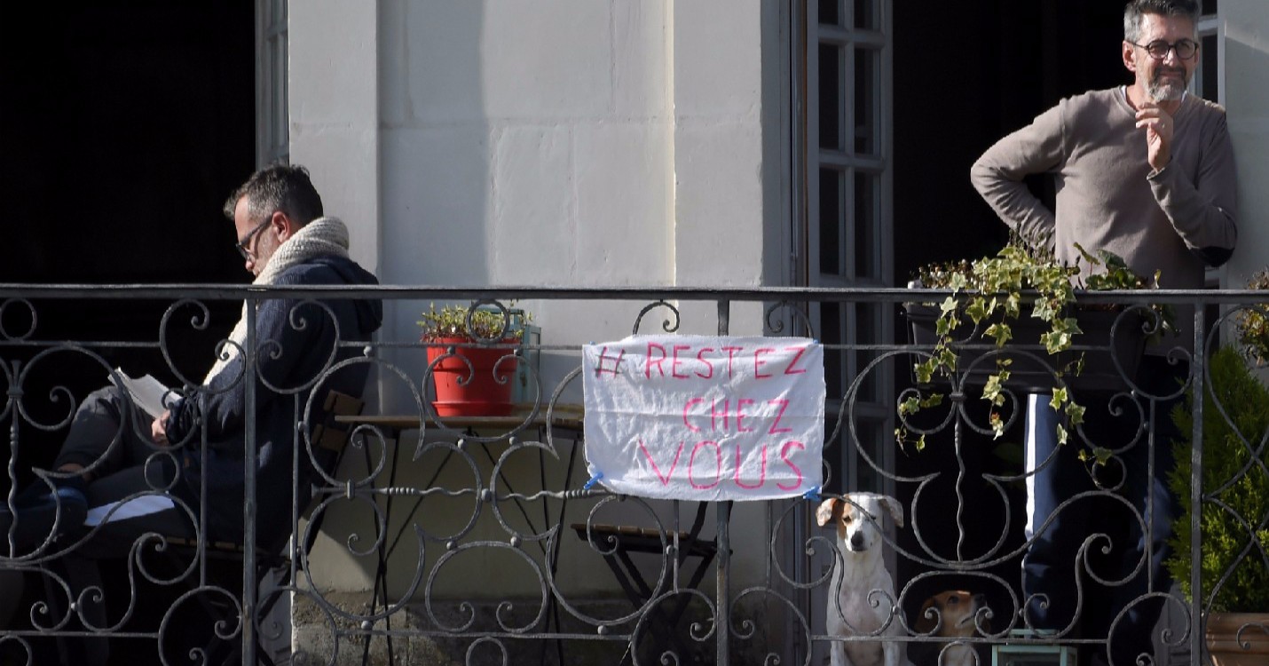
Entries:
{"type": "MultiPolygon", "coordinates": [[[[1123,6],[1124,0],[893,3],[896,285],[905,285],[921,264],[986,257],[1004,245],[1008,230],[970,184],[970,166],[997,139],[1063,97],[1131,81],[1119,60],[1123,6]]],[[[1051,201],[1046,179],[1029,184],[1051,201]]],[[[906,338],[905,322],[897,322],[896,330],[906,338]]],[[[910,375],[900,372],[896,379],[910,381],[910,375]]],[[[986,422],[981,402],[970,400],[967,407],[975,422],[986,422]]],[[[897,456],[901,475],[940,474],[925,491],[929,497],[963,493],[956,502],[926,500],[923,515],[912,517],[925,527],[923,539],[933,552],[954,558],[959,548],[964,557],[981,557],[992,552],[1005,530],[1009,541],[995,553],[1019,547],[1024,515],[1018,508],[1025,492],[1020,483],[1005,484],[1008,501],[1003,501],[1001,491],[983,475],[1019,473],[1022,421],[999,441],[967,428],[963,446],[953,449],[947,430],[948,438],[938,445],[897,456]],[[961,464],[968,482],[953,487],[961,464]],[[1006,513],[1009,506],[1015,508],[1006,513]],[[966,516],[958,516],[963,507],[966,516]]],[[[912,506],[911,486],[900,493],[905,506],[912,506]]],[[[924,552],[915,540],[905,547],[924,552]]],[[[904,561],[901,568],[906,571],[900,580],[925,571],[904,561]]],[[[1000,581],[1019,580],[1016,558],[986,571],[1000,581]]],[[[919,606],[943,588],[982,586],[981,580],[948,576],[928,582],[930,588],[914,588],[905,601],[919,606]]],[[[981,591],[989,592],[992,608],[1009,608],[1009,599],[991,596],[1000,594],[996,587],[981,591]]]]}

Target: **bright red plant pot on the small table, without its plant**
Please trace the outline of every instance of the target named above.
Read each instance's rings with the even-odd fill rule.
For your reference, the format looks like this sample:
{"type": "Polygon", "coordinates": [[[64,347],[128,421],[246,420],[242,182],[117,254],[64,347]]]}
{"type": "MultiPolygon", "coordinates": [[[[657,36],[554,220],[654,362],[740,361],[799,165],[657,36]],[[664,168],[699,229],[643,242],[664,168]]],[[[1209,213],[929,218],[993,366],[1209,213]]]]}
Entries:
{"type": "MultiPolygon", "coordinates": [[[[515,338],[503,343],[515,344],[515,338]]],[[[506,416],[511,413],[511,389],[519,358],[505,347],[477,347],[467,338],[440,338],[428,347],[428,364],[445,355],[433,367],[437,399],[431,405],[440,417],[506,416]],[[464,360],[466,358],[466,360],[464,360]],[[501,364],[499,364],[501,361],[501,364]],[[467,364],[471,362],[471,366],[467,364]]]]}

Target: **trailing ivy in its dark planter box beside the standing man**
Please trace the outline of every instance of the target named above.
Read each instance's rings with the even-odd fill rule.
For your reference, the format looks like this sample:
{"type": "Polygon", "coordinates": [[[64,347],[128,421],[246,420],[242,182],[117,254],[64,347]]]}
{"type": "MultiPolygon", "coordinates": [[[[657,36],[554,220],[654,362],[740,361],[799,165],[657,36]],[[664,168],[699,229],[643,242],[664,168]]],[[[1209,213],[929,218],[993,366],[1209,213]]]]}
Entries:
{"type": "MultiPolygon", "coordinates": [[[[930,356],[912,367],[919,389],[962,369],[959,381],[981,386],[982,398],[991,403],[990,423],[997,437],[1004,433],[1004,419],[995,408],[1005,403],[1006,385],[1028,393],[1052,390],[1053,408],[1067,416],[1071,427],[1082,422],[1082,408],[1071,399],[1070,386],[1122,389],[1123,377],[1136,371],[1145,348],[1145,329],[1150,324],[1143,327],[1134,316],[1122,318],[1123,308],[1119,306],[1076,306],[1076,294],[1081,289],[1145,289],[1147,282],[1113,253],[1103,250],[1093,255],[1076,248],[1094,271],[1074,285],[1072,278],[1080,275],[1079,266],[1065,266],[1051,250],[1037,249],[1018,236],[1011,236],[995,257],[921,268],[911,286],[950,289],[956,294],[940,304],[905,304],[912,343],[931,348],[930,356]],[[1023,302],[1023,290],[1036,292],[1029,304],[1023,302]],[[1109,350],[1109,353],[1094,355],[1095,362],[1088,362],[1082,352],[1071,351],[1077,336],[1086,330],[1088,338],[1079,338],[1081,343],[1109,350]],[[1000,351],[1010,341],[1015,348],[1020,344],[1042,348],[1049,355],[1052,367],[1025,361],[1015,366],[1022,357],[1000,351]],[[980,361],[987,353],[992,362],[980,361]]],[[[1157,278],[1156,275],[1155,283],[1157,278]]],[[[1167,313],[1162,308],[1157,310],[1166,324],[1167,313]]],[[[917,390],[900,403],[901,421],[942,400],[942,393],[917,390]]],[[[901,445],[912,441],[917,449],[925,444],[924,436],[912,438],[902,425],[896,428],[896,437],[901,445]]],[[[1058,426],[1057,437],[1060,442],[1067,438],[1062,426],[1058,426]]]]}

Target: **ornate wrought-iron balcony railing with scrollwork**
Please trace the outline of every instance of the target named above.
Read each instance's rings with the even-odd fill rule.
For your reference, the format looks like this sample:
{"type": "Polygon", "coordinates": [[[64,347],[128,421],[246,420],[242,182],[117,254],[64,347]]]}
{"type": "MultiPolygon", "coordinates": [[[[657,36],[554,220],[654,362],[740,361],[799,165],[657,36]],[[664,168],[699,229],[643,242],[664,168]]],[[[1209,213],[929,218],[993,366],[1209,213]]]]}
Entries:
{"type": "MultiPolygon", "coordinates": [[[[1266,432],[1240,430],[1258,422],[1239,421],[1239,405],[1221,402],[1223,375],[1212,372],[1214,351],[1236,341],[1240,315],[1263,313],[1269,295],[1148,292],[1150,302],[1193,322],[1181,327],[1193,330],[1192,339],[1165,338],[1147,350],[1180,377],[1164,391],[1138,384],[1136,358],[1126,357],[1136,352],[1104,338],[1077,339],[1075,353],[1084,353],[1086,366],[1109,361],[1103,366],[1112,369],[1110,379],[1122,381],[1085,389],[1065,365],[1070,355],[1055,360],[1038,346],[996,350],[970,339],[952,347],[963,361],[954,374],[915,384],[912,366],[931,348],[910,342],[904,304],[947,295],[0,285],[4,489],[18,515],[0,539],[0,585],[19,590],[0,595],[10,597],[10,608],[0,608],[9,611],[0,663],[254,663],[289,656],[296,663],[819,665],[835,647],[886,646],[901,646],[915,663],[987,663],[992,651],[1105,657],[1143,609],[1161,618],[1150,630],[1152,663],[1206,663],[1203,628],[1221,609],[1222,591],[1264,580],[1269,568],[1269,512],[1247,501],[1269,486],[1266,432]],[[225,343],[241,311],[254,322],[255,305],[279,299],[294,314],[291,332],[330,325],[331,304],[349,300],[382,300],[387,316],[371,342],[340,334],[329,347],[284,348],[251,332],[241,343],[225,343]],[[244,300],[249,308],[240,310],[244,300]],[[516,384],[510,414],[437,413],[438,365],[429,364],[428,347],[456,350],[419,342],[416,313],[431,302],[533,313],[541,337],[492,344],[516,361],[506,375],[516,384]],[[593,484],[579,412],[581,346],[632,333],[820,339],[830,393],[819,496],[716,505],[614,496],[593,484]],[[242,355],[245,370],[212,390],[204,374],[227,348],[242,355]],[[320,360],[317,370],[277,380],[269,364],[294,358],[288,355],[320,360]],[[1011,379],[992,405],[981,399],[981,371],[999,367],[1000,358],[1009,360],[1011,379]],[[151,444],[140,459],[122,442],[150,441],[150,418],[127,402],[117,430],[105,435],[114,444],[90,465],[90,488],[121,465],[148,470],[145,486],[121,503],[166,502],[161,506],[179,516],[188,539],[159,525],[105,544],[107,527],[58,525],[56,539],[22,543],[22,491],[58,477],[49,470],[77,411],[114,369],[151,374],[192,400],[245,395],[241,422],[230,423],[237,438],[227,437],[207,408],[188,437],[151,444]],[[364,386],[354,397],[365,407],[358,418],[336,418],[324,400],[331,386],[350,384],[364,386]],[[1065,421],[1067,444],[1029,459],[1027,394],[1041,391],[1047,402],[1053,386],[1070,389],[1086,423],[1128,426],[1065,421]],[[900,403],[933,394],[943,400],[900,417],[900,403]],[[1199,399],[1187,403],[1187,395],[1199,399]],[[1190,426],[1169,435],[1174,405],[1189,405],[1189,419],[1180,422],[1190,426]],[[269,435],[275,431],[268,419],[278,413],[296,416],[284,441],[269,435]],[[1213,421],[1231,426],[1230,441],[1204,441],[1213,421]],[[350,436],[324,449],[319,426],[350,436]],[[912,438],[901,445],[896,431],[923,436],[923,446],[912,438]],[[1183,444],[1169,441],[1174,437],[1183,444]],[[1245,447],[1242,463],[1230,468],[1230,478],[1200,483],[1207,446],[1231,442],[1245,447]],[[1161,554],[1157,530],[1171,527],[1151,517],[1165,507],[1128,497],[1148,484],[1156,465],[1167,464],[1174,446],[1193,465],[1183,498],[1202,507],[1178,522],[1176,544],[1188,553],[1181,561],[1200,563],[1216,549],[1236,554],[1214,577],[1189,573],[1183,582],[1198,591],[1193,597],[1165,585],[1151,566],[1161,554]],[[247,472],[227,492],[216,470],[233,464],[247,472]],[[1070,608],[1023,582],[1024,561],[1053,525],[1027,524],[1029,488],[1057,465],[1084,474],[1055,511],[1080,516],[1066,529],[1074,521],[1082,531],[1063,536],[1065,559],[1042,576],[1070,591],[1070,608]],[[258,475],[258,469],[270,472],[258,475]],[[881,527],[881,566],[891,572],[892,590],[858,572],[838,585],[834,574],[859,558],[836,530],[816,525],[816,511],[857,491],[897,501],[902,521],[862,519],[881,527]],[[279,506],[278,497],[293,500],[279,506]],[[1199,513],[1204,521],[1237,515],[1240,530],[1204,536],[1199,513]],[[233,520],[222,520],[226,515],[233,520]],[[226,525],[240,531],[226,533],[226,525]],[[1145,552],[1134,550],[1141,540],[1150,544],[1145,552]],[[947,591],[962,591],[962,608],[975,609],[959,616],[952,606],[926,606],[947,591]],[[838,597],[844,601],[830,601],[838,597]],[[1067,614],[1041,627],[1037,618],[1058,606],[1067,614]],[[862,619],[871,614],[882,619],[879,629],[862,619]],[[832,629],[843,624],[854,630],[832,629]]],[[[1119,313],[1112,318],[1117,334],[1157,325],[1143,316],[1140,292],[1080,299],[1119,313]]],[[[287,339],[310,339],[299,333],[287,339]]],[[[127,516],[117,510],[104,525],[127,516]]],[[[1240,627],[1244,639],[1269,634],[1255,622],[1240,627]]]]}

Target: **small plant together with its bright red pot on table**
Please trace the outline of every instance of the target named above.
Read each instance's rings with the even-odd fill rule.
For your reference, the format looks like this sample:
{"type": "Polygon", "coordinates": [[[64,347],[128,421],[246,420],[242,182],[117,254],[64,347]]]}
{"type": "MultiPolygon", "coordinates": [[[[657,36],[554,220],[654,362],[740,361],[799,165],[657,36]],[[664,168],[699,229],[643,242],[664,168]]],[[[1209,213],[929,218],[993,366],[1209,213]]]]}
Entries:
{"type": "Polygon", "coordinates": [[[431,304],[420,316],[419,341],[428,348],[437,416],[511,413],[524,325],[533,316],[489,302],[444,305],[439,310],[431,304]]]}

